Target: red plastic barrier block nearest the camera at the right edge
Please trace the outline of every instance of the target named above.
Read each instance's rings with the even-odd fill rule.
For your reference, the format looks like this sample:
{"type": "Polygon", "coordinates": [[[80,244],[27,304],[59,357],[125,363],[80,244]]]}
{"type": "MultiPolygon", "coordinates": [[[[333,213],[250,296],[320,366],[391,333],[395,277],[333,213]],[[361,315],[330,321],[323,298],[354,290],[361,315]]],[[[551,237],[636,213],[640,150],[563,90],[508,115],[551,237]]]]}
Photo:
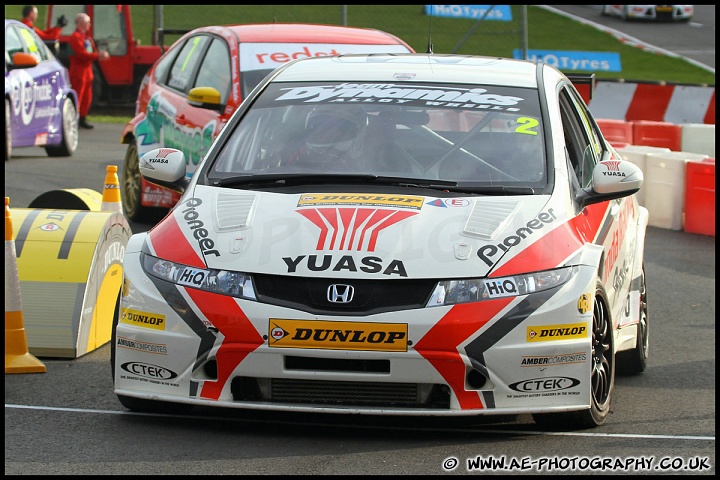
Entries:
{"type": "Polygon", "coordinates": [[[715,158],[687,162],[684,230],[715,236],[715,158]]]}

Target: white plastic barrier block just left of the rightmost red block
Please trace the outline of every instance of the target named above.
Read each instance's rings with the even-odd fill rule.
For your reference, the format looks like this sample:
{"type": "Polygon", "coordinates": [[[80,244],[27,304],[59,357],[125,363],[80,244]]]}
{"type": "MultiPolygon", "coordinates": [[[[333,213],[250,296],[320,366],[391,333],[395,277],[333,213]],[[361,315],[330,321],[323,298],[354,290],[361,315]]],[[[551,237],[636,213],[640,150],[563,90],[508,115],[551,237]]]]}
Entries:
{"type": "Polygon", "coordinates": [[[671,230],[683,229],[686,163],[707,155],[689,152],[657,152],[645,156],[645,208],[648,225],[671,230]]]}

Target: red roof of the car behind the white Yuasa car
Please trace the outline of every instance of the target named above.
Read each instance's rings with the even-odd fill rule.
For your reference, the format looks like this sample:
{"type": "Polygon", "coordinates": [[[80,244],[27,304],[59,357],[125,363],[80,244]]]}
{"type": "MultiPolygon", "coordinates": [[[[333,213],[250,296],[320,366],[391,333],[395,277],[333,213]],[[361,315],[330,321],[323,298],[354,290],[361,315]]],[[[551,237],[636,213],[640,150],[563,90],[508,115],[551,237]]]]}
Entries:
{"type": "MultiPolygon", "coordinates": [[[[193,32],[217,28],[231,30],[240,42],[267,43],[344,43],[358,45],[407,45],[400,38],[372,28],[344,27],[309,23],[255,23],[200,27],[193,32]]],[[[409,48],[409,47],[408,47],[409,48]]]]}

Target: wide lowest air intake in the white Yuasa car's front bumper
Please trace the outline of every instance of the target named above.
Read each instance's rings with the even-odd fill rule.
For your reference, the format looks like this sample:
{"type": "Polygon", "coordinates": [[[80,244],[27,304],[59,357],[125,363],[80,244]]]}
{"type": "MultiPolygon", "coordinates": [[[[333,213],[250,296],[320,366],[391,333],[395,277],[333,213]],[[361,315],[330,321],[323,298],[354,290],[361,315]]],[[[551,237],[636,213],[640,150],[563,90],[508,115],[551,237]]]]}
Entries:
{"type": "Polygon", "coordinates": [[[445,385],[429,383],[235,377],[231,390],[235,401],[343,407],[450,408],[449,389],[445,385]]]}

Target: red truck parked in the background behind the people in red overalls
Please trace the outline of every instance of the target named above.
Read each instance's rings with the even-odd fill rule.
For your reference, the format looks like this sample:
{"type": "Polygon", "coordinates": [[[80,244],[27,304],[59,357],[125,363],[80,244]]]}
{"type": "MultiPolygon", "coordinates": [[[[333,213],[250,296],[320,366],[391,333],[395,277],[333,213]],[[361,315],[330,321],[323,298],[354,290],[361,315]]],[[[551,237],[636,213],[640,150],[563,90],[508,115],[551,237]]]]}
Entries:
{"type": "MultiPolygon", "coordinates": [[[[131,104],[143,75],[160,58],[160,45],[140,45],[133,37],[130,5],[48,5],[47,27],[54,26],[60,15],[68,24],[63,28],[57,46],[57,57],[67,67],[68,40],[75,30],[75,15],[90,16],[90,32],[99,50],[106,50],[110,58],[95,62],[93,102],[102,104],[131,104]]],[[[153,37],[154,38],[154,37],[153,37]]]]}

